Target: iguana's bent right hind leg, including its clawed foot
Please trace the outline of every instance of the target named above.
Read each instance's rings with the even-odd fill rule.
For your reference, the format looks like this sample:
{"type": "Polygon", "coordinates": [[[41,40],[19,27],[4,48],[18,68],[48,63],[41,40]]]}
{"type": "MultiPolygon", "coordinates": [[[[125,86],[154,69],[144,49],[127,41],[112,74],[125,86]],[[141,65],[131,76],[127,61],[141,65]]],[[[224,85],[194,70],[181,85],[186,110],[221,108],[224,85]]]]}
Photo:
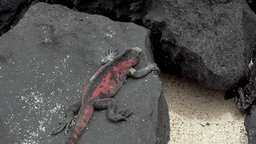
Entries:
{"type": "Polygon", "coordinates": [[[92,106],[94,106],[96,110],[107,110],[108,118],[112,121],[117,122],[124,120],[129,123],[129,119],[127,117],[130,116],[131,111],[119,110],[118,113],[115,113],[115,109],[117,108],[117,102],[114,99],[98,99],[92,104],[92,106]]]}

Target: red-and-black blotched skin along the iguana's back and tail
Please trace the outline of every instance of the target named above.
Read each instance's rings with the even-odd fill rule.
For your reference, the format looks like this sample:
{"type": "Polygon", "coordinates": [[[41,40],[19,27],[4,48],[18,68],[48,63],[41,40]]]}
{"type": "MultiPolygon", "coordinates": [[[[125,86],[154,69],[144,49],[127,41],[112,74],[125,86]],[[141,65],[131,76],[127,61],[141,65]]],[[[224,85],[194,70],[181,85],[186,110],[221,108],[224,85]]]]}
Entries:
{"type": "MultiPolygon", "coordinates": [[[[124,80],[129,74],[129,70],[139,62],[139,58],[130,57],[125,61],[120,61],[120,56],[114,57],[107,64],[103,65],[100,69],[96,71],[94,76],[91,77],[87,86],[84,87],[82,103],[78,113],[77,122],[75,122],[74,129],[69,137],[67,144],[75,144],[82,134],[84,128],[88,124],[92,113],[94,112],[94,107],[92,103],[97,99],[111,98],[118,91],[120,86],[123,84],[124,80]],[[113,61],[120,61],[118,64],[111,65],[113,61]],[[112,67],[112,68],[111,68],[112,67]],[[106,75],[102,78],[97,87],[93,87],[92,83],[100,73],[103,73],[104,69],[110,68],[106,75]],[[102,72],[103,71],[103,72],[102,72]],[[92,88],[94,88],[94,91],[92,88]]],[[[98,78],[97,78],[98,79],[98,78]]]]}

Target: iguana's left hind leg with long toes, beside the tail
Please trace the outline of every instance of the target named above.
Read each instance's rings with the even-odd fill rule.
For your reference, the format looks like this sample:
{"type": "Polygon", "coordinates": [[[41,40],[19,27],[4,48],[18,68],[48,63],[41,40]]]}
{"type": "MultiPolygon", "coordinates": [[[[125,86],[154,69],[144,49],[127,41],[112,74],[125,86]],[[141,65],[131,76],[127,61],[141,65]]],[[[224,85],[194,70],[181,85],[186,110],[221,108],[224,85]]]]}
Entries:
{"type": "Polygon", "coordinates": [[[60,133],[63,129],[65,129],[64,133],[67,135],[67,129],[69,127],[69,124],[71,123],[72,119],[74,118],[74,114],[78,113],[81,105],[81,100],[75,101],[75,103],[69,105],[65,109],[65,119],[61,123],[59,123],[59,127],[54,129],[53,132],[51,132],[51,135],[56,135],[60,133]]]}

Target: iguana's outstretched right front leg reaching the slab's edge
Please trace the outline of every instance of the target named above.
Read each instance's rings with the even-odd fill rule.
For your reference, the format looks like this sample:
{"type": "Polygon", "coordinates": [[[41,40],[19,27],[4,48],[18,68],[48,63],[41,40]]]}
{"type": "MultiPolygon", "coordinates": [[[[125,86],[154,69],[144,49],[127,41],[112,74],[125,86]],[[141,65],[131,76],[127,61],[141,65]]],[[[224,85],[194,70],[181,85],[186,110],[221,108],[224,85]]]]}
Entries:
{"type": "Polygon", "coordinates": [[[129,71],[129,75],[135,79],[139,79],[141,77],[148,75],[153,70],[160,71],[160,69],[158,68],[158,65],[156,63],[152,63],[152,64],[148,63],[147,67],[143,68],[141,70],[135,70],[135,69],[131,68],[129,71]]]}

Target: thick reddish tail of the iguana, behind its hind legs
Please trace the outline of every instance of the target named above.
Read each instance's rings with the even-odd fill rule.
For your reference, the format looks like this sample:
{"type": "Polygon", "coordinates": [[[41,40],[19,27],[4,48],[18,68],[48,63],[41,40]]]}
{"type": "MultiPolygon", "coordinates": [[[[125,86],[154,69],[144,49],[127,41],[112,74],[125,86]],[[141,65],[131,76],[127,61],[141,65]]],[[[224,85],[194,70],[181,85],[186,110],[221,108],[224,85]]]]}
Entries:
{"type": "Polygon", "coordinates": [[[80,110],[78,113],[77,121],[75,122],[74,129],[70,134],[70,137],[66,144],[75,144],[82,134],[84,128],[89,122],[92,113],[94,113],[94,107],[86,105],[84,110],[80,110]]]}

